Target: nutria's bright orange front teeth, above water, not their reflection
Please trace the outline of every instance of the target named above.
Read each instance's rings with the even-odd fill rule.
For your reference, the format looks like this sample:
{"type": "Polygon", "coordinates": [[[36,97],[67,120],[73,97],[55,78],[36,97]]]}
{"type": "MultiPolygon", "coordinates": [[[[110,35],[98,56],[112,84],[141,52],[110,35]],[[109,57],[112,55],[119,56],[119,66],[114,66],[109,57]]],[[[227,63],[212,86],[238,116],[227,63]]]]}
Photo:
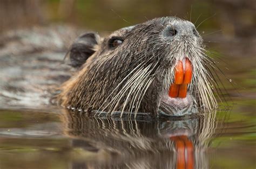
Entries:
{"type": "Polygon", "coordinates": [[[192,80],[193,67],[188,58],[179,60],[174,68],[174,83],[170,86],[169,96],[171,98],[185,98],[187,86],[192,80]]]}

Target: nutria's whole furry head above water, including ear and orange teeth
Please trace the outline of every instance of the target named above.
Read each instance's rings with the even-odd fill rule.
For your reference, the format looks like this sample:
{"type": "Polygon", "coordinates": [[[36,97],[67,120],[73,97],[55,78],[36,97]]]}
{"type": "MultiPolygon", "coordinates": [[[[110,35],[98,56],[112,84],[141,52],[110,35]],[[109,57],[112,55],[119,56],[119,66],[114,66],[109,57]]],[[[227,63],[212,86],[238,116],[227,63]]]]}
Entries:
{"type": "Polygon", "coordinates": [[[106,38],[85,33],[69,59],[80,71],[57,96],[65,107],[174,116],[217,107],[213,61],[187,20],[155,18],[106,38]]]}

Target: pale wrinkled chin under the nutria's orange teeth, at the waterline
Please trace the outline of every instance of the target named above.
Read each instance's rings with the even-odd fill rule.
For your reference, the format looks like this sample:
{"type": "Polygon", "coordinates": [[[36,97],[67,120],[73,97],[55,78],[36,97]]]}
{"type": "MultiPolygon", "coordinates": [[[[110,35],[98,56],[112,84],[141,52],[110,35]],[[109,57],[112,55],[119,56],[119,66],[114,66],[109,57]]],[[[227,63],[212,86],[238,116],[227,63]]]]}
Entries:
{"type": "Polygon", "coordinates": [[[159,113],[162,115],[184,116],[198,112],[196,100],[190,93],[185,98],[171,98],[167,94],[160,97],[159,113]]]}

